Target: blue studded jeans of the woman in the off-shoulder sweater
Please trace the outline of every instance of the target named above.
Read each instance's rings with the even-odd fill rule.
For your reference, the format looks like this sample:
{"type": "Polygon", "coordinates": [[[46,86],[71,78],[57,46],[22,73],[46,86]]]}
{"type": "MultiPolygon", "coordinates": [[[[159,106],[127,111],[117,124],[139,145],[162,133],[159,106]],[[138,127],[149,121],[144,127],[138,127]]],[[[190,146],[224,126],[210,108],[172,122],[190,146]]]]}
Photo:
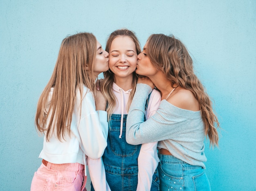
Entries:
{"type": "Polygon", "coordinates": [[[158,154],[160,191],[211,191],[204,169],[174,156],[158,154]]]}

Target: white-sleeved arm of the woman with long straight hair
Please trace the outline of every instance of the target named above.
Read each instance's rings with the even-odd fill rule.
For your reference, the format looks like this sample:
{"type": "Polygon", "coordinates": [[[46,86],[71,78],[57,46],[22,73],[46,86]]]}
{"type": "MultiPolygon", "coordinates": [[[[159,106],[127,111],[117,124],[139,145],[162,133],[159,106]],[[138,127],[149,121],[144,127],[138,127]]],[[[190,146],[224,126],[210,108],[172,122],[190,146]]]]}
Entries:
{"type": "Polygon", "coordinates": [[[86,92],[84,87],[82,102],[80,93],[77,93],[74,114],[77,117],[76,123],[81,138],[81,148],[85,155],[92,159],[100,158],[107,146],[107,112],[96,111],[94,97],[89,90],[86,92]],[[81,118],[79,117],[80,111],[81,118]]]}

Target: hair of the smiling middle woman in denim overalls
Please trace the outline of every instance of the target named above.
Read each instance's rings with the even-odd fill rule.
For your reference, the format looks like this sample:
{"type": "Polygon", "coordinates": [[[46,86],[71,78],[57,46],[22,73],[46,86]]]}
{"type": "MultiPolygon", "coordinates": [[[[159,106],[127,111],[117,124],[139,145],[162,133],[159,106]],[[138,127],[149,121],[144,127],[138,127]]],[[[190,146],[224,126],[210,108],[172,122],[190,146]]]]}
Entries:
{"type": "MultiPolygon", "coordinates": [[[[133,40],[133,42],[135,43],[137,55],[141,52],[139,40],[135,36],[135,33],[128,29],[119,29],[110,34],[110,36],[108,37],[107,43],[106,43],[106,51],[107,52],[109,52],[109,50],[110,50],[112,41],[118,36],[130,37],[133,40]]],[[[103,74],[104,74],[105,78],[103,80],[103,83],[101,84],[101,86],[102,86],[101,90],[108,102],[107,112],[108,112],[108,119],[110,119],[110,116],[111,116],[111,114],[115,108],[115,105],[116,105],[116,97],[112,90],[115,74],[110,69],[106,72],[103,72],[103,74]]],[[[127,108],[126,108],[127,110],[129,110],[130,104],[132,103],[132,98],[135,93],[135,87],[136,87],[136,83],[137,83],[137,79],[138,79],[135,72],[133,72],[132,75],[133,75],[132,76],[132,87],[134,87],[134,88],[132,88],[132,91],[130,92],[130,97],[129,97],[127,108]]]]}

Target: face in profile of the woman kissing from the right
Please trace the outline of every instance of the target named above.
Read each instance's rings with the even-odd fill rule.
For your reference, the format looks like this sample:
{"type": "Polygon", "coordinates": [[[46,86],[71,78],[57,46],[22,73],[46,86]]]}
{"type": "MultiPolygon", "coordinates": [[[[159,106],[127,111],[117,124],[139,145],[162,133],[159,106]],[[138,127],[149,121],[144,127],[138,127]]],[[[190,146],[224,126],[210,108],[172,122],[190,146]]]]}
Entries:
{"type": "Polygon", "coordinates": [[[137,56],[137,69],[136,73],[143,76],[152,76],[155,75],[157,69],[153,66],[149,57],[147,56],[147,44],[146,42],[142,52],[137,56]]]}

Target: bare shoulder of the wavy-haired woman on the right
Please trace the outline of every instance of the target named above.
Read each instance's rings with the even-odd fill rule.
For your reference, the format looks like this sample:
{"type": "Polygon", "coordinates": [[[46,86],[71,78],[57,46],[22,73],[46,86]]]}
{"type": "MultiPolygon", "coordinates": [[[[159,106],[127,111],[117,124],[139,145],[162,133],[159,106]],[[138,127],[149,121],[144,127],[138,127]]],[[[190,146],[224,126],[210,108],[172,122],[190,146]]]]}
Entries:
{"type": "Polygon", "coordinates": [[[167,101],[184,110],[200,110],[199,103],[197,99],[195,99],[194,94],[190,90],[186,90],[184,88],[175,89],[167,101]]]}

